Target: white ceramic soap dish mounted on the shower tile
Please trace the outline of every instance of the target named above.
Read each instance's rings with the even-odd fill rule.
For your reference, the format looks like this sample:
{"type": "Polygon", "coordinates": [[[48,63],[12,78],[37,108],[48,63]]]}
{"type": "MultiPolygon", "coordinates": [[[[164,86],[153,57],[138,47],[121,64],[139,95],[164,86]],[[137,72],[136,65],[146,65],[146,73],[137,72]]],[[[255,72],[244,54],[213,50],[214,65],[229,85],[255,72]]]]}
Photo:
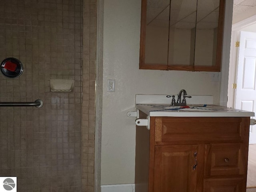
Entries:
{"type": "Polygon", "coordinates": [[[50,79],[52,92],[72,92],[75,81],[73,79],[50,79]]]}

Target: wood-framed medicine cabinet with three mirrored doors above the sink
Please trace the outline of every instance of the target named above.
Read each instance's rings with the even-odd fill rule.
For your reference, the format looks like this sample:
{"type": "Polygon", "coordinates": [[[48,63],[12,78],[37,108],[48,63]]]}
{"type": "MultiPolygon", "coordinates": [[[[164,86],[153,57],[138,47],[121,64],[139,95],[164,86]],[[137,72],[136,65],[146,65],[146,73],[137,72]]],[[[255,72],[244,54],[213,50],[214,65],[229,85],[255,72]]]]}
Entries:
{"type": "Polygon", "coordinates": [[[225,0],[142,0],[140,69],[220,71],[225,0]]]}

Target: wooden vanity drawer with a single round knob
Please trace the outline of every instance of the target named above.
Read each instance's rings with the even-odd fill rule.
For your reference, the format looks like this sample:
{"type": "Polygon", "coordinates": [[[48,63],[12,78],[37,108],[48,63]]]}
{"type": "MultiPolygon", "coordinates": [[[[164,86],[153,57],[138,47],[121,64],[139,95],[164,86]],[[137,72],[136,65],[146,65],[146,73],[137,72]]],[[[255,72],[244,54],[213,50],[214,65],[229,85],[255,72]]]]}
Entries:
{"type": "Polygon", "coordinates": [[[243,144],[206,144],[205,176],[245,174],[243,144]]]}

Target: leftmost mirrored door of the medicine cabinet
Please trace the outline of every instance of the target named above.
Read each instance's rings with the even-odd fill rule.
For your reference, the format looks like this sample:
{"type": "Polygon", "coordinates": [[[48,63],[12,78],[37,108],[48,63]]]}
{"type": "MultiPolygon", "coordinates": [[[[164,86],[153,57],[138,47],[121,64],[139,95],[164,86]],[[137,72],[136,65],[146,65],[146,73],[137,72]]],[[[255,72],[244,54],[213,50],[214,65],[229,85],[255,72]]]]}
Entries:
{"type": "Polygon", "coordinates": [[[170,0],[142,0],[140,63],[148,68],[167,70],[169,18],[170,0]]]}

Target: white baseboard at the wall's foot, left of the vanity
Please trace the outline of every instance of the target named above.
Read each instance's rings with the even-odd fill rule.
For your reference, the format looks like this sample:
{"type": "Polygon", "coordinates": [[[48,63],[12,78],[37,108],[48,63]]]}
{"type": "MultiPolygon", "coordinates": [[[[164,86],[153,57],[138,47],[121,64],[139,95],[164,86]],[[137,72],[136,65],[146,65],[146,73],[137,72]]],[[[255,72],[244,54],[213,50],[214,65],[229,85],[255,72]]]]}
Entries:
{"type": "Polygon", "coordinates": [[[102,185],[101,192],[135,192],[135,184],[102,185]]]}

